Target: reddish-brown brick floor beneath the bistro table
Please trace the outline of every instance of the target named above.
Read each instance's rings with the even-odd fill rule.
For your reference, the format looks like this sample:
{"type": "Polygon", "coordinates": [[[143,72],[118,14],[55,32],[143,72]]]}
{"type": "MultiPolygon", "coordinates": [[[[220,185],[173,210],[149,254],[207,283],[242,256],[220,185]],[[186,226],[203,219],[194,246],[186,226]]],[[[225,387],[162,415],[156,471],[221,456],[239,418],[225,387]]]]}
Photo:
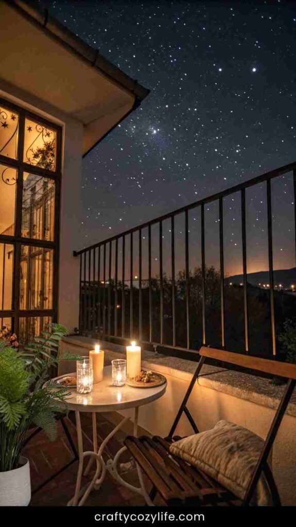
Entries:
{"type": "MultiPolygon", "coordinates": [[[[75,419],[72,413],[66,418],[67,427],[71,433],[73,441],[77,446],[75,419]]],[[[84,450],[92,450],[92,422],[90,414],[81,414],[81,423],[83,428],[83,443],[84,450]]],[[[104,414],[97,414],[97,433],[98,445],[114,428],[114,425],[106,420],[104,414]]],[[[124,432],[119,431],[115,434],[104,452],[104,460],[113,457],[117,450],[121,448],[124,432]]],[[[58,471],[63,465],[67,464],[72,459],[72,452],[68,445],[67,438],[63,431],[61,423],[58,423],[58,437],[57,440],[51,443],[44,432],[40,432],[26,445],[24,455],[28,457],[31,466],[31,484],[32,484],[32,506],[57,506],[66,505],[67,502],[74,495],[76,474],[78,469],[78,462],[73,463],[60,475],[55,477],[50,483],[47,483],[42,489],[34,493],[34,489],[43,483],[48,477],[58,471]]],[[[126,463],[130,461],[130,454],[123,453],[120,462],[126,463]]],[[[85,466],[89,458],[85,460],[85,466]]],[[[92,470],[86,477],[83,477],[82,485],[92,479],[94,474],[93,464],[92,470]]],[[[124,470],[121,473],[123,479],[134,485],[137,485],[137,473],[134,467],[129,470],[124,470]]],[[[150,489],[150,484],[145,480],[146,488],[150,489]]],[[[161,502],[160,502],[161,503],[161,502]]],[[[126,489],[117,483],[113,477],[107,473],[103,485],[100,490],[93,490],[88,496],[85,505],[144,505],[142,496],[126,489]]]]}

